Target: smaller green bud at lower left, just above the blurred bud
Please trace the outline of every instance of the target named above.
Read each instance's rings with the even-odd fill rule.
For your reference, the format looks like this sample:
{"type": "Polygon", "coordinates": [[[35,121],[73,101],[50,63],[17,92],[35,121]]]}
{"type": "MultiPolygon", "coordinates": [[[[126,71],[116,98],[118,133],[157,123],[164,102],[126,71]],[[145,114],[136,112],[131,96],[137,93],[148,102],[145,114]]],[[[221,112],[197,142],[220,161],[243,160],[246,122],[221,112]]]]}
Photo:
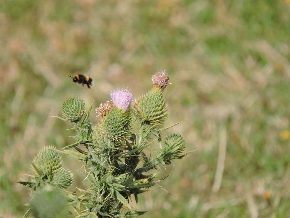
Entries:
{"type": "Polygon", "coordinates": [[[64,170],[63,168],[55,171],[51,185],[61,189],[67,189],[72,185],[72,174],[69,170],[64,170]]]}

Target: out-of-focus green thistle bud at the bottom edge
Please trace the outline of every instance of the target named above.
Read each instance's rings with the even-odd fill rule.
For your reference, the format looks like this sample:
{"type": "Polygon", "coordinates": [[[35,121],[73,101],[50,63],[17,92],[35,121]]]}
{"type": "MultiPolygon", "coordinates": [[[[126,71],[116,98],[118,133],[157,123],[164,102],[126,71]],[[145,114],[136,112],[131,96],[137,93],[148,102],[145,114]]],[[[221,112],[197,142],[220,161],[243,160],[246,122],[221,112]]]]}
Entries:
{"type": "Polygon", "coordinates": [[[29,205],[34,217],[65,218],[68,216],[66,197],[52,187],[46,187],[34,193],[29,205]]]}

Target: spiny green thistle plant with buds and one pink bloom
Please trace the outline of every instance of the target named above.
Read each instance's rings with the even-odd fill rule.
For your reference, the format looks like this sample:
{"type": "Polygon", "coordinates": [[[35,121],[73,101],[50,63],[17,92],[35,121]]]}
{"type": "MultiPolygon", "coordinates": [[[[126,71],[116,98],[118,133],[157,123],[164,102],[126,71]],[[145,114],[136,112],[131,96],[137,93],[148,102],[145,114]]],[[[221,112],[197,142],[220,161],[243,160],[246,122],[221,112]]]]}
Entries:
{"type": "MultiPolygon", "coordinates": [[[[70,121],[76,130],[75,143],[56,150],[45,147],[34,158],[31,166],[34,175],[28,181],[19,183],[31,188],[31,202],[24,217],[55,217],[53,206],[45,216],[40,211],[37,198],[45,195],[47,186],[56,192],[64,193],[70,209],[66,217],[135,217],[146,211],[132,210],[129,199],[146,192],[165,178],[156,178],[150,170],[172,164],[175,159],[184,157],[185,140],[179,134],[169,134],[162,139],[162,127],[169,116],[164,99],[164,89],[169,84],[166,71],[159,71],[152,77],[153,87],[130,106],[132,92],[116,88],[111,92],[111,101],[100,104],[95,109],[100,121],[91,124],[89,114],[92,105],[85,109],[85,103],[77,97],[68,98],[62,105],[64,121],[70,121]],[[137,131],[132,128],[138,123],[137,131]],[[147,154],[144,149],[157,141],[160,149],[156,154],[147,154]],[[63,169],[59,154],[66,154],[83,163],[86,189],[77,192],[65,189],[72,184],[72,175],[63,169]],[[149,172],[150,171],[150,172],[149,172]],[[37,206],[35,206],[37,205],[37,206]]],[[[172,126],[171,126],[172,127],[172,126]]],[[[60,196],[56,196],[60,198],[60,196]]],[[[46,197],[43,197],[45,202],[46,197]]],[[[42,201],[39,201],[40,203],[42,201]]],[[[46,203],[47,204],[47,203],[46,203]]],[[[57,208],[55,209],[57,210],[57,208]]]]}

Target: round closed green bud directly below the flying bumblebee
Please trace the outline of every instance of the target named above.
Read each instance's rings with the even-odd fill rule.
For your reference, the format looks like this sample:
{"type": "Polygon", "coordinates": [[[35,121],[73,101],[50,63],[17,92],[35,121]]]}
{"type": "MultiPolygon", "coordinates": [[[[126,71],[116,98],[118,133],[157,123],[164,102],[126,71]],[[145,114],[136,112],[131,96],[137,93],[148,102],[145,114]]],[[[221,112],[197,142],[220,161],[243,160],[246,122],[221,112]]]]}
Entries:
{"type": "Polygon", "coordinates": [[[68,98],[61,107],[63,118],[78,122],[85,114],[85,102],[77,97],[68,98]]]}

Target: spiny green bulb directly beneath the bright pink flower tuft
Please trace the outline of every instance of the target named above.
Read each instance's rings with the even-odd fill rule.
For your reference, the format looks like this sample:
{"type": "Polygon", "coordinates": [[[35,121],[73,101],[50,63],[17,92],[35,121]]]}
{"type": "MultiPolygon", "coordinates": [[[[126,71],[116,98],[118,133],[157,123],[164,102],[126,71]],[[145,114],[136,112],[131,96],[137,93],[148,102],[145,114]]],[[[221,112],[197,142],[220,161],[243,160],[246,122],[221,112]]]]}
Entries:
{"type": "Polygon", "coordinates": [[[129,110],[124,113],[115,107],[101,119],[98,127],[100,134],[112,141],[127,140],[131,135],[131,113],[129,110]]]}

